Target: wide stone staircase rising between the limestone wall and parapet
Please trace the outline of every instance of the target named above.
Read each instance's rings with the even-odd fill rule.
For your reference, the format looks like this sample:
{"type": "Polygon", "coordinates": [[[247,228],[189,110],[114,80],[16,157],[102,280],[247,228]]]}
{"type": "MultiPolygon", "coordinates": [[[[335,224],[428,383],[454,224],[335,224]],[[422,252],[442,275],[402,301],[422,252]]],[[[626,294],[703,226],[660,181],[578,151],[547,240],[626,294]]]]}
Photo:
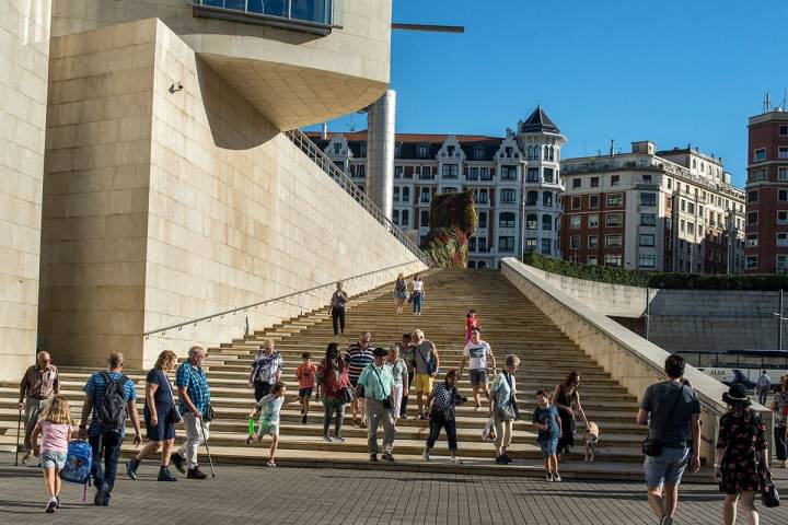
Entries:
{"type": "MultiPolygon", "coordinates": [[[[488,341],[502,365],[508,353],[520,357],[517,372],[518,397],[522,421],[514,423],[514,440],[510,456],[514,463],[498,466],[490,443],[482,441],[486,411],[474,410],[473,402],[457,407],[457,439],[464,465],[452,465],[448,456],[445,436],[441,435],[432,453],[432,460],[420,458],[428,434],[426,421],[413,419],[416,415],[415,394],[412,390],[408,419],[398,422],[395,441],[395,464],[369,463],[366,430],[352,427],[349,407],[343,434],[347,442],[322,441],[322,404],[313,399],[309,423],[301,423],[298,405],[296,368],[301,353],[310,351],[318,361],[332,340],[333,330],[327,308],[311,312],[244,339],[236,339],[220,348],[210,348],[206,366],[218,419],[211,425],[211,454],[218,463],[262,465],[267,457],[268,441],[247,447],[246,415],[254,402],[247,385],[250,365],[263,339],[271,338],[286,362],[283,381],[288,396],[282,408],[280,448],[278,460],[285,466],[336,466],[343,468],[394,468],[402,470],[432,470],[473,474],[542,476],[542,455],[536,443],[536,431],[531,424],[535,407],[535,392],[551,392],[572,370],[582,378],[582,405],[591,421],[601,429],[601,450],[593,464],[582,463],[581,431],[576,435],[578,446],[568,460],[561,464],[561,474],[571,478],[639,479],[641,477],[640,442],[644,429],[635,424],[638,405],[615,378],[605,373],[572,343],[538,308],[522,296],[496,271],[433,270],[426,273],[427,289],[424,314],[416,317],[407,310],[394,313],[392,285],[385,285],[357,298],[349,304],[346,335],[339,340],[343,349],[356,341],[364,330],[372,332],[374,346],[387,347],[403,332],[421,328],[432,340],[441,357],[443,372],[460,366],[464,346],[464,320],[470,308],[475,308],[482,323],[483,339],[488,341]]],[[[56,361],[57,361],[57,357],[56,361]]],[[[74,418],[79,417],[81,387],[92,370],[61,368],[63,393],[73,400],[74,418]]],[[[140,400],[144,388],[144,374],[130,371],[137,382],[140,400]]],[[[461,395],[471,397],[467,373],[459,382],[461,395]]],[[[16,439],[15,385],[0,386],[0,445],[13,446],[16,439]]],[[[138,402],[140,418],[142,404],[138,402]]],[[[184,432],[178,428],[178,439],[184,432]]],[[[382,438],[382,432],[381,432],[382,438]]],[[[130,440],[124,454],[134,447],[130,440]]],[[[155,460],[151,458],[151,460],[155,460]]],[[[204,460],[205,463],[205,460],[204,460]]],[[[153,471],[154,463],[143,465],[142,471],[153,471]]]]}

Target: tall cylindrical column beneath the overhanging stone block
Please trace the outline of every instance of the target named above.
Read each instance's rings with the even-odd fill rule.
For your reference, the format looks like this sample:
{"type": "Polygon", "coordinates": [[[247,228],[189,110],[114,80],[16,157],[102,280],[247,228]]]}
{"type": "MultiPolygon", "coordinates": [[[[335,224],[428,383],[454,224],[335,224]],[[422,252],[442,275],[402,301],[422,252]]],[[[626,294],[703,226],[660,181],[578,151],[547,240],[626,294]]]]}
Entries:
{"type": "Polygon", "coordinates": [[[386,90],[368,110],[367,195],[391,220],[394,198],[396,92],[386,90]]]}

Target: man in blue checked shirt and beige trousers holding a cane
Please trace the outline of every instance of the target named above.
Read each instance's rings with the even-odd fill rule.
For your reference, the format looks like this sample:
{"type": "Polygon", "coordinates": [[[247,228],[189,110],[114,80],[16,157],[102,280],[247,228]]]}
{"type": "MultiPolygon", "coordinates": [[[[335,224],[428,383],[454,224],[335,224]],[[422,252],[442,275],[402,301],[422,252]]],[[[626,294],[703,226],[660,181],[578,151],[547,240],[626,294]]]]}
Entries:
{"type": "Polygon", "coordinates": [[[208,352],[202,347],[189,348],[188,361],[182,363],[175,372],[175,386],[178,387],[178,410],[183,413],[186,428],[186,443],[173,454],[175,468],[186,474],[188,479],[205,479],[206,475],[197,463],[197,447],[200,441],[208,439],[210,423],[205,420],[210,406],[208,377],[202,370],[202,361],[208,352]],[[184,463],[188,464],[188,471],[184,463]]]}

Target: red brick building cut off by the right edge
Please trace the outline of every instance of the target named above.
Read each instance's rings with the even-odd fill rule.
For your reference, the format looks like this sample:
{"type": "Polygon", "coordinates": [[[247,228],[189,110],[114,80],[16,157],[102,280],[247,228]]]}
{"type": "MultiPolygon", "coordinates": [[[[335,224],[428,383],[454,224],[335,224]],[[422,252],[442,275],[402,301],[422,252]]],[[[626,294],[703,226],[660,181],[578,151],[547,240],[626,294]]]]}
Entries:
{"type": "Polygon", "coordinates": [[[788,112],[750,118],[745,271],[788,269],[788,112]]]}

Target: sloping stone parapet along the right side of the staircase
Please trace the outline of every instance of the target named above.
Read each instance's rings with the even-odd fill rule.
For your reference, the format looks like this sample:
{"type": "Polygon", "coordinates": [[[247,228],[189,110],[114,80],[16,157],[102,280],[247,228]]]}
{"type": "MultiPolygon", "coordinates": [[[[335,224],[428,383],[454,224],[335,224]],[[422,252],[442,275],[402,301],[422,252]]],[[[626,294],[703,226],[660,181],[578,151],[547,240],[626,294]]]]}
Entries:
{"type": "MultiPolygon", "coordinates": [[[[662,348],[571,298],[514,258],[503,259],[501,271],[525,298],[638,399],[648,385],[664,378],[662,368],[669,352],[662,348]]],[[[726,411],[721,398],[728,388],[693,366],[687,366],[684,376],[693,384],[703,404],[702,455],[708,465],[712,465],[718,417],[726,411]]],[[[770,428],[772,412],[760,405],[755,408],[770,428]]]]}

